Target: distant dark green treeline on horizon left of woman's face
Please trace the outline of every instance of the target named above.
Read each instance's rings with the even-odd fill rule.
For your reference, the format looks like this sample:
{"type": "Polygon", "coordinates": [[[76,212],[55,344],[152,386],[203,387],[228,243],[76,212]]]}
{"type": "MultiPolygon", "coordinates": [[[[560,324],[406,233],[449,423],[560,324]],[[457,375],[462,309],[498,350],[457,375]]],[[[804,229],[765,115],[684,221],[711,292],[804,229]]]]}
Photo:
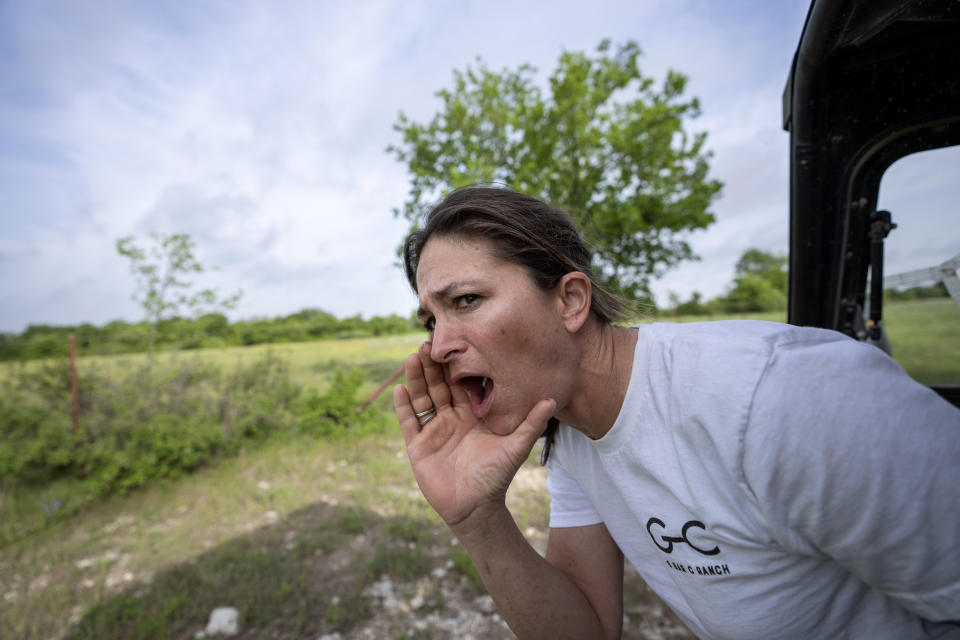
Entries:
{"type": "MultiPolygon", "coordinates": [[[[158,349],[200,349],[236,345],[304,342],[330,338],[357,338],[407,333],[420,327],[411,316],[396,314],[364,320],[359,315],[338,319],[320,309],[304,309],[289,316],[230,322],[220,313],[195,319],[173,318],[157,326],[158,349]]],[[[0,361],[66,356],[68,335],[74,334],[78,355],[136,353],[147,350],[150,324],[122,320],[101,327],[30,325],[21,334],[0,333],[0,361]]]]}

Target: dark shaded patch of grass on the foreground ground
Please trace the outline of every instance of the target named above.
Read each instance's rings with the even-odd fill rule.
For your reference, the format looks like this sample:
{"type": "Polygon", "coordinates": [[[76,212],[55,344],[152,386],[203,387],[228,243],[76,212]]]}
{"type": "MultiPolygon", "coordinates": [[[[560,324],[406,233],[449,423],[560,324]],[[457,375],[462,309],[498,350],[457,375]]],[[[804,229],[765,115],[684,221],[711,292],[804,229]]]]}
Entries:
{"type": "Polygon", "coordinates": [[[363,591],[377,575],[406,579],[431,564],[423,553],[391,546],[390,519],[371,512],[361,519],[366,539],[380,547],[374,559],[369,565],[338,561],[336,549],[349,537],[341,523],[356,515],[324,503],[298,510],[105,600],[66,637],[191,637],[225,603],[241,612],[246,637],[347,633],[371,614],[363,591]]]}

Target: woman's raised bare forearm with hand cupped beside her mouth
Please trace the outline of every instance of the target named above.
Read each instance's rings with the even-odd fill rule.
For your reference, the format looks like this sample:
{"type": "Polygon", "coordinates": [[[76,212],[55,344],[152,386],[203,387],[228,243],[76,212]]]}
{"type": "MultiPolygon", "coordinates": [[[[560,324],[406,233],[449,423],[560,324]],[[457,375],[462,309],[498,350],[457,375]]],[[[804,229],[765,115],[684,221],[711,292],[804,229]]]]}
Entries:
{"type": "Polygon", "coordinates": [[[623,560],[602,525],[552,530],[550,561],[524,539],[506,508],[507,487],[556,408],[538,402],[510,435],[489,431],[466,392],[447,383],[430,346],[405,362],[394,406],[424,496],[470,554],[519,638],[617,638],[623,560]],[[416,413],[436,415],[422,428],[416,413]]]}

